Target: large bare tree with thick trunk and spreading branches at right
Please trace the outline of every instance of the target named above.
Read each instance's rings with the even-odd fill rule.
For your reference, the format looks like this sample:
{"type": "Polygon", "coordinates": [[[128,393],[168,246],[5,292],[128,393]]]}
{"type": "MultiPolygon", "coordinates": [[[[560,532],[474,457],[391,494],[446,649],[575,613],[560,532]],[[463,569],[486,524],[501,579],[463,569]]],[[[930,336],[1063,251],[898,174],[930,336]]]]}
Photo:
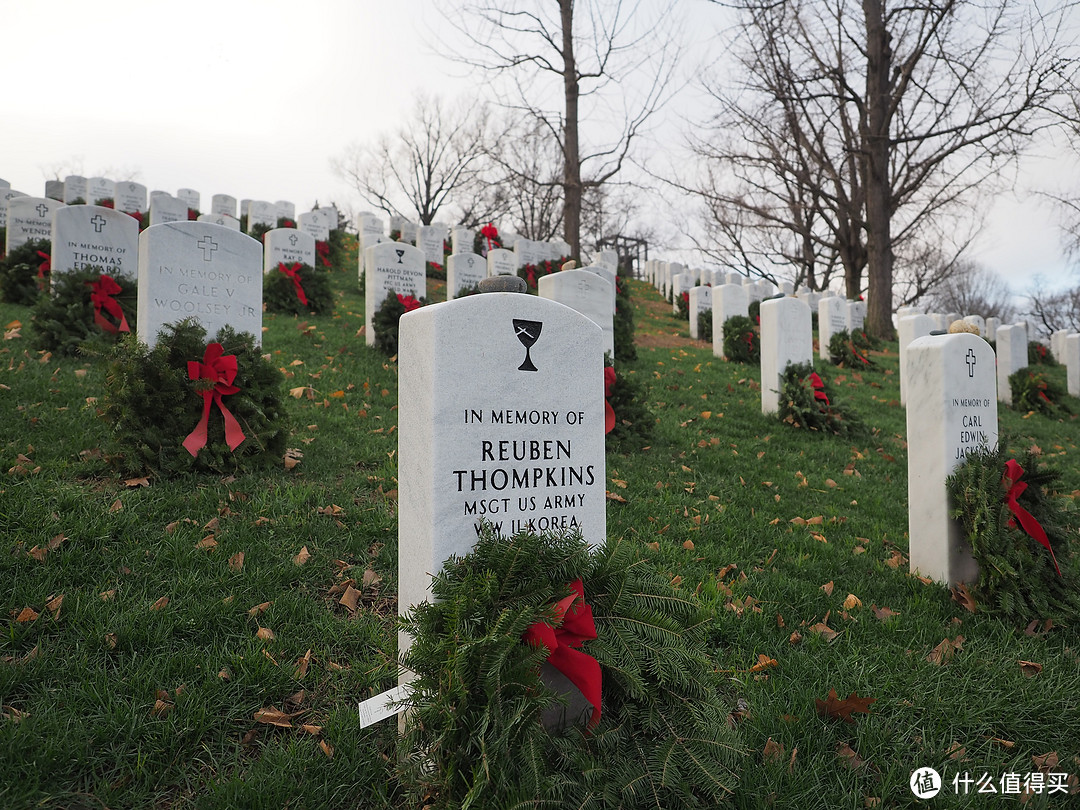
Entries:
{"type": "Polygon", "coordinates": [[[714,87],[713,123],[733,123],[745,143],[699,140],[720,166],[703,197],[719,215],[739,213],[734,253],[759,245],[768,260],[800,265],[811,286],[815,268],[842,267],[848,295],[867,291],[867,327],[889,335],[897,260],[920,267],[942,217],[1061,123],[1076,76],[1069,3],[734,4],[744,78],[714,87]],[[762,227],[768,238],[748,242],[746,229],[762,227]]]}

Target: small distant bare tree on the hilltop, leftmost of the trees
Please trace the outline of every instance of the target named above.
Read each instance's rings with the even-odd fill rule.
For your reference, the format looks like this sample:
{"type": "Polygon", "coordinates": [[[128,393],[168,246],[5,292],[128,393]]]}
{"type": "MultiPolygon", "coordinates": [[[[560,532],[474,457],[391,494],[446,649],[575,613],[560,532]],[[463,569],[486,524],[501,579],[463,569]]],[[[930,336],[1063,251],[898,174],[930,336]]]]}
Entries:
{"type": "Polygon", "coordinates": [[[468,201],[469,215],[481,218],[477,188],[483,185],[486,126],[483,107],[450,107],[420,95],[396,130],[353,145],[332,165],[368,204],[387,214],[431,225],[460,198],[468,201]]]}

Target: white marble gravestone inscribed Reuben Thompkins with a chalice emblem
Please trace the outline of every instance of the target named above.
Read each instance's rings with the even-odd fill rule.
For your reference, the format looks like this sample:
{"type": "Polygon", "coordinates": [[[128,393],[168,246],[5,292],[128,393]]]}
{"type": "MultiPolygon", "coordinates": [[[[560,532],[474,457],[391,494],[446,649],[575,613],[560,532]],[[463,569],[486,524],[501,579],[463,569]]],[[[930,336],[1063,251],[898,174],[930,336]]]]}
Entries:
{"type": "MultiPolygon", "coordinates": [[[[604,351],[592,321],[519,293],[422,307],[401,319],[399,369],[401,615],[431,598],[432,575],[472,549],[482,522],[505,537],[580,530],[604,542],[604,351]]],[[[399,652],[409,643],[400,634],[399,652]]]]}

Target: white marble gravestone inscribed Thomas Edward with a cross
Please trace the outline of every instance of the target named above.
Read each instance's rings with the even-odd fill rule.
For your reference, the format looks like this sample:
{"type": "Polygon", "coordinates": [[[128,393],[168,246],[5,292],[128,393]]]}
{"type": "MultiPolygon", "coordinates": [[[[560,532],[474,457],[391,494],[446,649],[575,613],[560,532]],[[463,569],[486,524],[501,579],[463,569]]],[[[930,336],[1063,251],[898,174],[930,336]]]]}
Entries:
{"type": "Polygon", "coordinates": [[[60,205],[53,215],[52,279],[90,268],[134,280],[138,222],[100,205],[60,205]]]}

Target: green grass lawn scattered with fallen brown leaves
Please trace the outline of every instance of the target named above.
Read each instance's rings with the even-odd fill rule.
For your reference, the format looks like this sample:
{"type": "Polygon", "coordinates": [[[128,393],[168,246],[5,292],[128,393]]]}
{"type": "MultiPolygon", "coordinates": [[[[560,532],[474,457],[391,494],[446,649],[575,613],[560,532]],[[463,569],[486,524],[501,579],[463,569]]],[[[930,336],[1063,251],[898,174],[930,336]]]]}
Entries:
{"type": "MultiPolygon", "coordinates": [[[[100,457],[102,364],[44,359],[27,337],[0,346],[0,806],[403,806],[394,725],[360,730],[355,711],[395,677],[397,369],[357,336],[354,287],[351,272],[335,276],[333,316],[264,319],[284,384],[311,391],[288,399],[303,454],[291,471],[127,487],[100,457]],[[210,536],[216,548],[199,548],[210,536]],[[348,579],[363,592],[354,613],[338,603],[348,579]],[[54,619],[46,603],[62,594],[54,619]],[[40,617],[18,622],[27,607],[40,617]],[[268,706],[299,714],[292,728],[257,723],[268,706]]],[[[1026,636],[908,575],[895,345],[861,377],[818,363],[868,430],[810,434],[761,416],[756,367],[691,343],[651,287],[632,289],[644,345],[620,372],[642,381],[657,422],[648,449],[608,457],[608,489],[626,499],[609,502],[608,530],[714,608],[711,638],[748,707],[737,805],[915,806],[916,767],[998,779],[1049,752],[1080,773],[1077,629],[1026,636]],[[848,594],[862,606],[846,610],[848,594]],[[881,621],[873,605],[896,615],[881,621]],[[826,615],[833,640],[811,631],[826,615]],[[957,635],[950,661],[927,660],[957,635]],[[777,665],[750,672],[759,654],[777,665]],[[1042,672],[1025,676],[1020,660],[1042,672]],[[814,700],[829,689],[876,702],[853,725],[828,721],[814,700]],[[783,756],[764,755],[770,738],[783,756]]],[[[12,320],[29,334],[29,310],[0,305],[12,320]]],[[[1000,422],[1063,469],[1065,494],[1080,489],[1072,418],[1001,408],[1000,422]]],[[[1065,806],[1049,798],[1029,806],[1065,806]]],[[[954,799],[949,786],[936,801],[954,799]]]]}

